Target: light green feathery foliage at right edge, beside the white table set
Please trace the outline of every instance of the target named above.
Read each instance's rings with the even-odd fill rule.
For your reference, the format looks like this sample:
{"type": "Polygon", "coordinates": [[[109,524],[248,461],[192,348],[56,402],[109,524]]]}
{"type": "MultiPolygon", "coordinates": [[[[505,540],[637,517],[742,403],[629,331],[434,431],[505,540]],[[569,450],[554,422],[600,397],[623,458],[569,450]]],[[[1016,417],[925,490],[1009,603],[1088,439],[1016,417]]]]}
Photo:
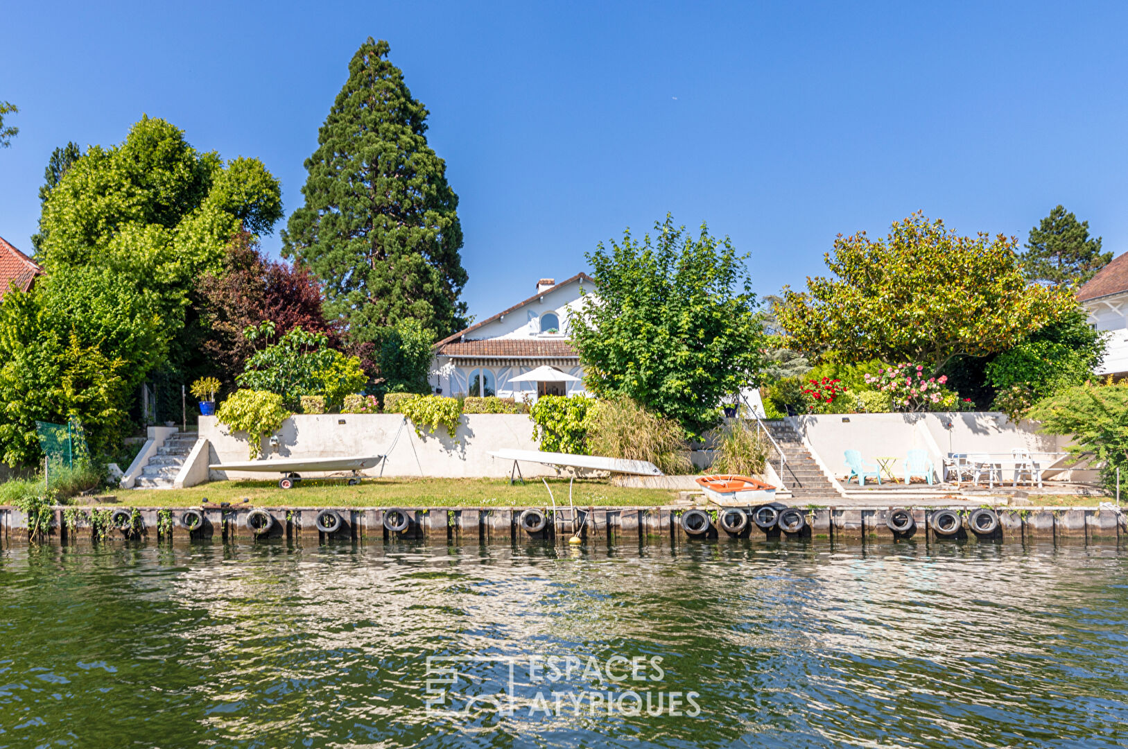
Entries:
{"type": "Polygon", "coordinates": [[[1034,404],[1028,413],[1042,432],[1072,437],[1074,456],[1092,452],[1111,492],[1117,468],[1128,469],[1128,384],[1086,382],[1065,388],[1034,404]]]}

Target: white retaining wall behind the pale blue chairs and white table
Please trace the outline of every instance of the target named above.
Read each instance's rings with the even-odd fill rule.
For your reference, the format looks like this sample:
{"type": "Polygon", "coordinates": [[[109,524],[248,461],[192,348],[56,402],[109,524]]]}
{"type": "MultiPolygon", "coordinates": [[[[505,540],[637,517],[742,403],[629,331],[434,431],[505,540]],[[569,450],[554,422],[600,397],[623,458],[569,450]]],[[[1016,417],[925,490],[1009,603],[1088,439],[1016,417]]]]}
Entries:
{"type": "MultiPolygon", "coordinates": [[[[927,450],[942,470],[949,452],[1010,452],[1024,448],[1031,452],[1065,452],[1070,440],[1054,434],[1038,434],[1039,424],[1012,422],[997,412],[925,414],[820,414],[788,416],[786,420],[819,453],[836,476],[847,473],[844,452],[857,450],[866,460],[874,457],[901,458],[892,465],[893,475],[905,469],[909,450],[927,450]]],[[[1069,472],[1055,478],[1068,478],[1069,472]]]]}

